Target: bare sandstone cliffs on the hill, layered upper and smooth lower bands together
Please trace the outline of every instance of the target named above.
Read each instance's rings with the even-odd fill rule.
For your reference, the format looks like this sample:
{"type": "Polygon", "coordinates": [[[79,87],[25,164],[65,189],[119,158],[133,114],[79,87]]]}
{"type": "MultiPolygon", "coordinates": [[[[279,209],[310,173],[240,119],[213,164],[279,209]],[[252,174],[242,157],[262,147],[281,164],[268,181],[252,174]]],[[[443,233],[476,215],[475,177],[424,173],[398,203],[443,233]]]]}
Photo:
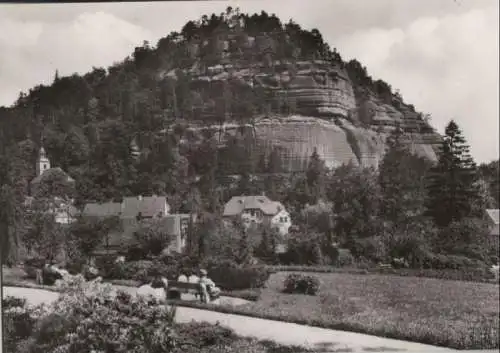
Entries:
{"type": "MultiPolygon", "coordinates": [[[[175,76],[175,71],[167,75],[175,76]]],[[[353,87],[341,64],[276,61],[203,69],[195,65],[190,75],[197,85],[237,79],[275,91],[275,99],[286,98],[293,114],[256,119],[251,130],[265,150],[279,147],[287,171],[304,170],[314,149],[329,167],[352,163],[376,168],[385,153],[385,140],[396,126],[406,131],[414,153],[437,159],[439,136],[412,106],[398,95],[382,101],[369,90],[353,87]]],[[[229,123],[222,130],[237,133],[240,126],[229,123]]]]}

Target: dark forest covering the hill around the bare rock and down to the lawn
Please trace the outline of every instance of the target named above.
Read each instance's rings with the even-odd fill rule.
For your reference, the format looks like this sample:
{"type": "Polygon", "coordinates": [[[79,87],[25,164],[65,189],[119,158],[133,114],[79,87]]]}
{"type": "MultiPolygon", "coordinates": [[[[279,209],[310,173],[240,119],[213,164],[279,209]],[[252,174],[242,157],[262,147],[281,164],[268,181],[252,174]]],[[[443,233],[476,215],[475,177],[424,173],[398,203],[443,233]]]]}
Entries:
{"type": "Polygon", "coordinates": [[[155,47],[144,42],[107,69],[68,77],[56,72],[51,85],[21,93],[11,107],[0,108],[2,249],[9,241],[19,244],[26,228],[21,224],[31,222],[23,202],[43,145],[52,165],[75,179],[78,206],[156,194],[166,195],[174,212],[216,215],[233,195],[265,192],[282,201],[302,229],[335,236],[356,256],[415,255],[419,249],[485,260],[484,248],[469,246],[482,240],[470,237],[484,208],[498,207],[498,161],[476,167],[453,122],[437,166],[408,152],[401,143],[404,132],[396,129],[380,170],[328,170],[314,153],[308,170],[296,175],[282,173],[278,151],[262,153],[245,134],[221,146],[209,129],[199,135],[186,130],[190,121],[243,124],[259,114],[294,109],[274,90],[252,89],[237,78],[193,84],[189,69],[264,63],[263,70],[275,70],[276,60],[293,67],[318,59],[342,66],[357,88],[381,100],[395,94],[358,61],[344,62],[318,30],[232,8],[187,22],[155,47]],[[468,233],[456,235],[457,229],[468,233]],[[446,239],[455,241],[432,235],[443,232],[453,233],[446,239]]]}

